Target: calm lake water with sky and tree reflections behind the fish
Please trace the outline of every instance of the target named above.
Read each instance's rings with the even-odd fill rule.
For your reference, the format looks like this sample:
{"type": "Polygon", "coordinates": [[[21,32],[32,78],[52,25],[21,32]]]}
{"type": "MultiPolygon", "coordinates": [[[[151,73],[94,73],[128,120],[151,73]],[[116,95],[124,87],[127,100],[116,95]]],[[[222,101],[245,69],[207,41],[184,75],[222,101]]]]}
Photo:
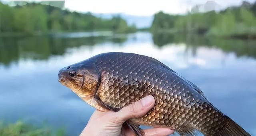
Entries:
{"type": "Polygon", "coordinates": [[[78,135],[94,108],[57,81],[58,70],[110,51],[154,57],[203,90],[256,135],[256,41],[195,35],[65,33],[0,38],[0,120],[46,122],[78,135]]]}

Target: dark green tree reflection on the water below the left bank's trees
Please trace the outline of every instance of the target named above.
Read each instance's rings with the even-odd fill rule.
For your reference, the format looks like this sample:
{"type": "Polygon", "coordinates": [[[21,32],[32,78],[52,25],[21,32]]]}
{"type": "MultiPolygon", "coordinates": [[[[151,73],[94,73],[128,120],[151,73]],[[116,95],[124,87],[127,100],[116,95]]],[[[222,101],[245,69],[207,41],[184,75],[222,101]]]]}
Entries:
{"type": "Polygon", "coordinates": [[[9,65],[10,62],[19,59],[48,59],[51,55],[63,55],[67,48],[93,46],[106,41],[123,43],[126,37],[2,37],[0,38],[0,64],[9,65]]]}

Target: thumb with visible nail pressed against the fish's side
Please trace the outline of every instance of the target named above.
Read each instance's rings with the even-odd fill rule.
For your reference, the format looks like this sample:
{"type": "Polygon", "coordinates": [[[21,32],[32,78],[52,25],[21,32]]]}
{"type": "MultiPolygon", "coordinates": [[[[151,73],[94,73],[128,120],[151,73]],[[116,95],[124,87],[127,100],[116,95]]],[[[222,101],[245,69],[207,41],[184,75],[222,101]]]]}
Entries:
{"type": "Polygon", "coordinates": [[[118,112],[114,113],[114,117],[116,121],[119,121],[120,123],[124,123],[126,120],[130,118],[136,118],[143,116],[146,114],[155,103],[155,99],[152,96],[144,97],[143,99],[140,99],[137,102],[134,102],[118,112]]]}

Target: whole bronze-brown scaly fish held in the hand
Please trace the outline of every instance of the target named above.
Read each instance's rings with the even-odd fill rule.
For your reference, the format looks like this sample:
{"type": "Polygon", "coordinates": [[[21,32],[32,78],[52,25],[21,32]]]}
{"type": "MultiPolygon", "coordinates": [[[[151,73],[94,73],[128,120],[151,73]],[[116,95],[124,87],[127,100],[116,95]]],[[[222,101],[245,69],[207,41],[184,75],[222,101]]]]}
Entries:
{"type": "Polygon", "coordinates": [[[58,81],[97,110],[119,111],[148,95],[154,107],[126,123],[136,136],[140,125],[176,130],[181,136],[250,136],[213,106],[192,82],[152,57],[110,52],[60,69],[58,81]]]}

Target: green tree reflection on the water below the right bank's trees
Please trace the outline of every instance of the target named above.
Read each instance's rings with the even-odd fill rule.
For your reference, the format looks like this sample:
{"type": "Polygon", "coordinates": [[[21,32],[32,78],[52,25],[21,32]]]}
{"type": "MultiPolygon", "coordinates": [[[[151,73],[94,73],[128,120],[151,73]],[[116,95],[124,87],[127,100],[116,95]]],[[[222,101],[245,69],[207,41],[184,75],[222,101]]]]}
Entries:
{"type": "Polygon", "coordinates": [[[239,56],[256,58],[256,40],[223,39],[217,37],[205,37],[204,35],[184,35],[170,33],[153,34],[154,44],[162,47],[169,43],[185,43],[187,48],[191,48],[193,55],[198,47],[216,47],[225,52],[234,52],[239,56]]]}

